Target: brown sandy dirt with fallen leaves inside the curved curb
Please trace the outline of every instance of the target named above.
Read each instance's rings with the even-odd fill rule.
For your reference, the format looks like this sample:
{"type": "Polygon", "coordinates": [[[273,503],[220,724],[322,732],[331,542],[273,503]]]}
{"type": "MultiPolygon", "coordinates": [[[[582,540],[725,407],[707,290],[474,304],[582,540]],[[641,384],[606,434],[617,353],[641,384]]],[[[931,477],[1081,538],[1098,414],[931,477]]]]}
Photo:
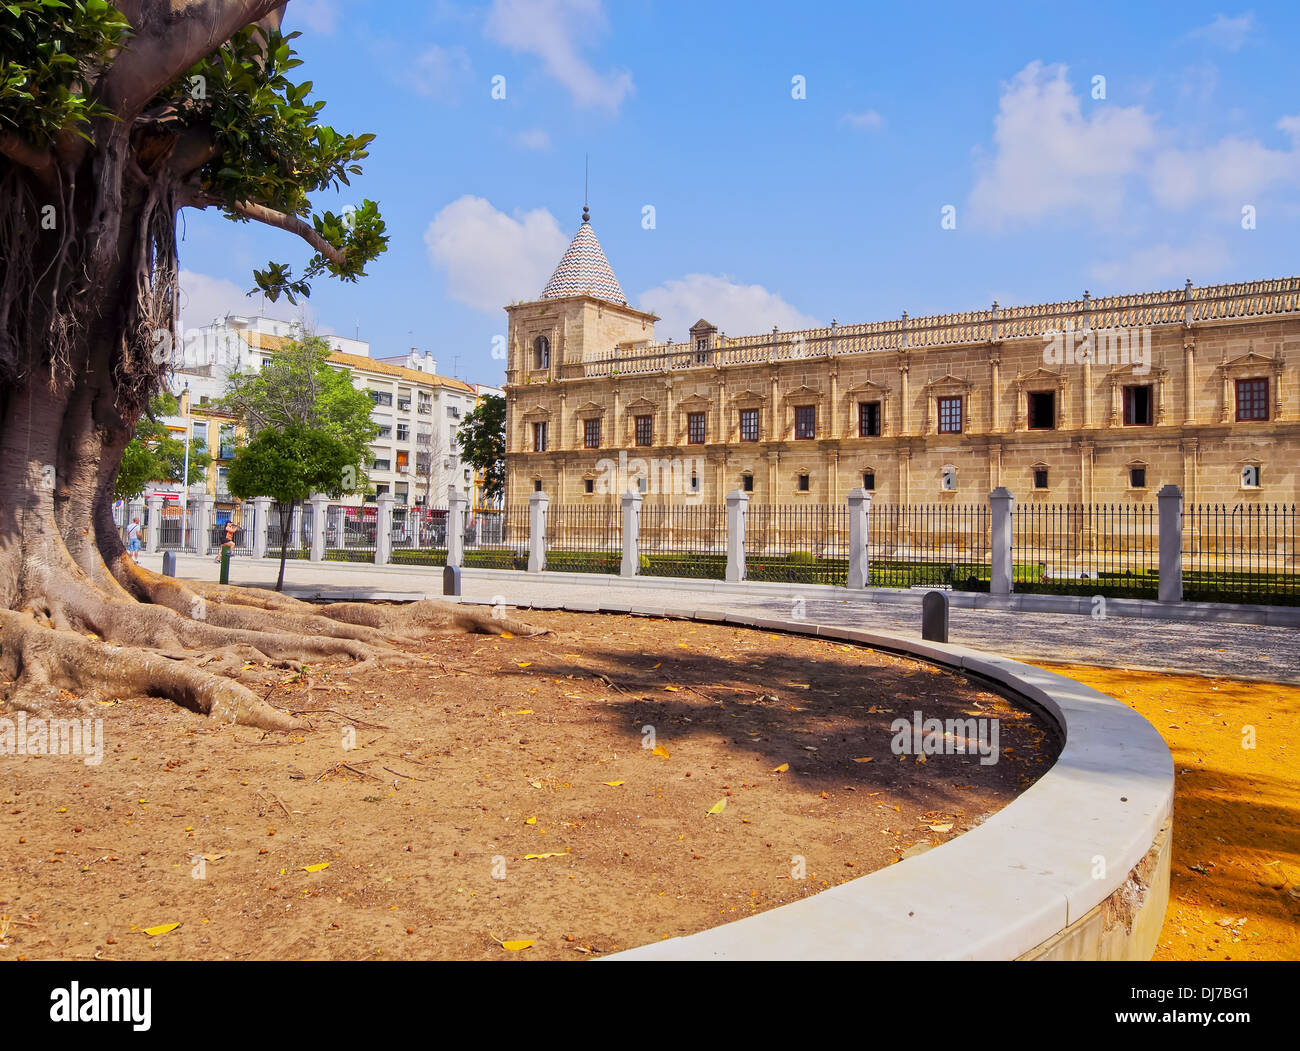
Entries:
{"type": "Polygon", "coordinates": [[[528,619],[554,632],[266,670],[308,732],[121,697],[98,765],[0,756],[0,959],[592,959],[944,843],[1060,751],[987,685],[859,646],[528,619]],[[896,754],[915,710],[996,718],[1000,761],[896,754]]]}

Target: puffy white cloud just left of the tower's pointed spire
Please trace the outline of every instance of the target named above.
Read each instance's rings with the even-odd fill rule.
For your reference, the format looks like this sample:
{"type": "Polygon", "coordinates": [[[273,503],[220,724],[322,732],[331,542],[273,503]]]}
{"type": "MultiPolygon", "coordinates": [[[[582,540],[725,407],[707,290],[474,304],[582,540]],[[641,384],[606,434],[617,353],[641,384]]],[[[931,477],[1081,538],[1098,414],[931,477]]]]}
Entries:
{"type": "Polygon", "coordinates": [[[493,313],[541,295],[568,242],[545,208],[508,216],[471,195],[438,212],[424,233],[429,259],[446,273],[447,294],[493,313]]]}

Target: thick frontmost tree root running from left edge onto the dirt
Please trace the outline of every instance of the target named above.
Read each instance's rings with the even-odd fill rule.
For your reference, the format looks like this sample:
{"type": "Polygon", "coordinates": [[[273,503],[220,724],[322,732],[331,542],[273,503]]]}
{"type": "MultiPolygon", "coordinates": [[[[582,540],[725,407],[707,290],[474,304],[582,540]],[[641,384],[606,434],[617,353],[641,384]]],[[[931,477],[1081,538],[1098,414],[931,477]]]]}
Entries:
{"type": "Polygon", "coordinates": [[[0,674],[14,685],[8,700],[29,708],[74,693],[147,693],[220,722],[263,730],[298,730],[300,719],[265,704],[248,687],[159,653],[107,645],[34,618],[0,610],[0,674]]]}

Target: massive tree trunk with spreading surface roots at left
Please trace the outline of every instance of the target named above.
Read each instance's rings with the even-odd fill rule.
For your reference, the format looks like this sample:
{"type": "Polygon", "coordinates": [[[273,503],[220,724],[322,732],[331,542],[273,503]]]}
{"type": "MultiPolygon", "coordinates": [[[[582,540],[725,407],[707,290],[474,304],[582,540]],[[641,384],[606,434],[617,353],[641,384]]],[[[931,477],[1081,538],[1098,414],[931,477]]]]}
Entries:
{"type": "Polygon", "coordinates": [[[170,364],[156,349],[169,349],[183,202],[127,127],[101,122],[94,139],[52,176],[0,156],[0,695],[31,710],[157,695],[287,730],[291,715],[238,682],[250,658],[400,662],[430,631],[526,633],[443,604],[187,584],[126,555],[113,483],[170,364]]]}

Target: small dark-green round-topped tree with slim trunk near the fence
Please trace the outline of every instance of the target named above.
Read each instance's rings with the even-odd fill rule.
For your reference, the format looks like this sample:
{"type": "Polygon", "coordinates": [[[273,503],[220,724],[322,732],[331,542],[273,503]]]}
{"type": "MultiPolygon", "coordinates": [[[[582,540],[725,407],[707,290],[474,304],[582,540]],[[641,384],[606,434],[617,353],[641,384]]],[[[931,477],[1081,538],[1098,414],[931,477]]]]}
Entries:
{"type": "Polygon", "coordinates": [[[285,587],[289,553],[289,523],[294,509],[312,493],[341,494],[347,472],[355,466],[352,450],[324,431],[300,424],[265,428],[230,463],[230,492],[239,499],[270,497],[280,505],[280,579],[285,587]]]}

